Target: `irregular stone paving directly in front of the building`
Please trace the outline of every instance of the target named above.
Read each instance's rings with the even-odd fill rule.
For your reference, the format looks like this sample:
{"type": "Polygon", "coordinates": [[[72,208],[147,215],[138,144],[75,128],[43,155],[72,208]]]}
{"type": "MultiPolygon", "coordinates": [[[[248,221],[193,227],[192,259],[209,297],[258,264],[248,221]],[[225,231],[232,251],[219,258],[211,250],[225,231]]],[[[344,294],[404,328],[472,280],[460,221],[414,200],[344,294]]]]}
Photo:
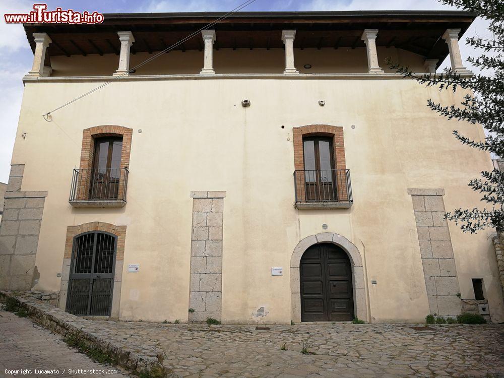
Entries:
{"type": "Polygon", "coordinates": [[[117,343],[162,350],[180,377],[504,377],[504,326],[255,326],[92,322],[117,343]],[[308,351],[301,354],[301,344],[308,351]],[[281,350],[285,344],[287,350],[281,350]]]}

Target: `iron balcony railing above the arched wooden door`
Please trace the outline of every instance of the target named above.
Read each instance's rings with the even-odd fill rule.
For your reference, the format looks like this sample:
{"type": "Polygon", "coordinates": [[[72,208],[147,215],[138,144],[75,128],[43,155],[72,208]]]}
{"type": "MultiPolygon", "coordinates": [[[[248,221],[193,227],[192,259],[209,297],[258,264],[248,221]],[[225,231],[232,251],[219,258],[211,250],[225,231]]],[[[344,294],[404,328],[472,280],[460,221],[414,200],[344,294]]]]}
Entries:
{"type": "Polygon", "coordinates": [[[353,202],[349,169],[294,171],[296,203],[353,202]]]}

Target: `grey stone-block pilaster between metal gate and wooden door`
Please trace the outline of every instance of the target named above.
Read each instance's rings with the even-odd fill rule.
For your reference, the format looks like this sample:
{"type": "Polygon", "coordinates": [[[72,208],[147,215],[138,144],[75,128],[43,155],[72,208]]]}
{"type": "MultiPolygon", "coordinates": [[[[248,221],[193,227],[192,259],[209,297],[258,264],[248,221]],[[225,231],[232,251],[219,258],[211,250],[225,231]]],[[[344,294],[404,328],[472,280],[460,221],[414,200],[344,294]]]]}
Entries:
{"type": "Polygon", "coordinates": [[[221,320],[222,309],[222,227],[226,192],[191,192],[193,227],[191,233],[190,322],[207,318],[221,320]]]}

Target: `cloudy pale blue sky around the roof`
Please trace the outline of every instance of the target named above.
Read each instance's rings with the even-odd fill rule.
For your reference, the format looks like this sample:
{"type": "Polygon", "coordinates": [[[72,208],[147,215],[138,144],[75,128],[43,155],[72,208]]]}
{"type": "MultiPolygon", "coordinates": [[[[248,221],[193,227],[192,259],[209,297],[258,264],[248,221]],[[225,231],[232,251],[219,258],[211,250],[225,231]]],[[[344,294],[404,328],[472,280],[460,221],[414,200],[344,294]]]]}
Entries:
{"type": "MultiPolygon", "coordinates": [[[[56,7],[75,11],[119,12],[197,12],[229,11],[243,0],[47,0],[48,10],[56,7]]],[[[28,13],[33,2],[0,0],[5,13],[28,13]]],[[[257,0],[244,11],[347,11],[347,10],[439,10],[451,9],[435,0],[257,0]]],[[[476,20],[464,37],[488,36],[486,20],[476,20]]],[[[464,38],[465,40],[465,38],[464,38]]],[[[461,43],[463,58],[474,52],[461,43]]],[[[7,182],[16,135],[23,83],[21,78],[32,65],[33,54],[21,25],[0,22],[0,181],[7,182]]],[[[449,64],[448,58],[444,66],[449,64]]]]}

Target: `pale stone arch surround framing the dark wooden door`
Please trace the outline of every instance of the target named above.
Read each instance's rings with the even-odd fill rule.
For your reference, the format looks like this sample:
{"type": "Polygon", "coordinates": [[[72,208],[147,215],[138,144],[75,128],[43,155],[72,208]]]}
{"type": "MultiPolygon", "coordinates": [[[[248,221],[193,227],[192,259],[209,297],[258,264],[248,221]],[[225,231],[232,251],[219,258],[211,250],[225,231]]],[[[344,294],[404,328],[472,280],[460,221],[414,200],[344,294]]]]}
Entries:
{"type": "Polygon", "coordinates": [[[318,243],[333,243],[341,247],[350,259],[353,279],[353,298],[355,317],[369,321],[366,305],[366,289],[364,282],[364,267],[359,249],[346,237],[333,232],[322,232],[302,239],[294,248],[290,259],[290,290],[291,290],[291,320],[301,322],[301,284],[299,265],[301,258],[311,245],[318,243]]]}

